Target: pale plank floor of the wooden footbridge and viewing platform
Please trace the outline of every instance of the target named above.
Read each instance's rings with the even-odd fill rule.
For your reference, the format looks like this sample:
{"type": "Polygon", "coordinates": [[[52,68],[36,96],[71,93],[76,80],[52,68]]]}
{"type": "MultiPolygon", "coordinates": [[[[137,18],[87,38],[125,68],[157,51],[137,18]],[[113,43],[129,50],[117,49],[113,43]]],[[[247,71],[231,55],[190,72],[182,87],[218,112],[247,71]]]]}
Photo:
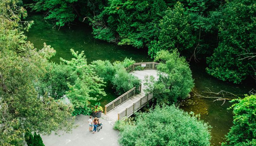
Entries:
{"type": "Polygon", "coordinates": [[[138,99],[140,99],[141,97],[143,97],[145,95],[144,92],[144,76],[148,75],[148,76],[154,76],[155,79],[158,78],[157,76],[157,70],[134,70],[131,72],[132,75],[137,76],[141,81],[142,81],[142,89],[141,89],[141,93],[136,94],[134,96],[132,96],[130,99],[128,99],[127,101],[125,101],[124,103],[120,104],[118,107],[116,107],[115,109],[113,109],[112,111],[107,113],[107,116],[109,118],[112,119],[112,121],[117,121],[118,120],[118,113],[122,110],[124,110],[125,108],[127,108],[129,105],[133,104],[135,101],[137,101],[138,99]]]}

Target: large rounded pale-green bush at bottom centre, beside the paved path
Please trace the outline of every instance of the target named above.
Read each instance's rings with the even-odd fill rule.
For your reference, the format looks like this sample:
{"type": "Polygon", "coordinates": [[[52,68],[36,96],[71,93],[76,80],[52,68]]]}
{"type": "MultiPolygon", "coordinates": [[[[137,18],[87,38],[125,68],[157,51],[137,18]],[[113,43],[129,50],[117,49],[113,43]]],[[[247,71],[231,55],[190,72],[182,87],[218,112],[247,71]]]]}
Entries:
{"type": "Polygon", "coordinates": [[[119,143],[123,146],[210,146],[210,126],[194,115],[171,106],[156,106],[140,113],[134,124],[123,121],[119,143]]]}

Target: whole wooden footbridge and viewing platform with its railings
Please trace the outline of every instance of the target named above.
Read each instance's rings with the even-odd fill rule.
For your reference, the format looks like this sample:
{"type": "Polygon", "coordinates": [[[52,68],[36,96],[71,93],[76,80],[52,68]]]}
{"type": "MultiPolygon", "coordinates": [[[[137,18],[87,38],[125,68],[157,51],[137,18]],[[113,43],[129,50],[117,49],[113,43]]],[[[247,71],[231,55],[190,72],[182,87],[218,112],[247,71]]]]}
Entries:
{"type": "Polygon", "coordinates": [[[142,80],[142,84],[139,87],[132,88],[109,104],[105,105],[105,115],[113,121],[122,120],[125,117],[133,115],[147,102],[149,102],[153,98],[153,93],[145,94],[143,91],[143,89],[145,89],[143,80],[146,75],[152,75],[155,79],[158,78],[157,65],[159,65],[159,63],[145,62],[135,63],[125,68],[126,71],[142,80]]]}

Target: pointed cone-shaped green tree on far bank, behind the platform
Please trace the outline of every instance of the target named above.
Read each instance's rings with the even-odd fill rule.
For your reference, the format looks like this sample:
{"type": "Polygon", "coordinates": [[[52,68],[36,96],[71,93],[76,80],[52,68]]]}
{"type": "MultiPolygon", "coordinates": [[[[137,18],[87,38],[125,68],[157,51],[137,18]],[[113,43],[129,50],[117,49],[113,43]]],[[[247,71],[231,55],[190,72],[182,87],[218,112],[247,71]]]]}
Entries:
{"type": "Polygon", "coordinates": [[[154,58],[160,50],[174,50],[192,52],[195,37],[192,35],[193,27],[189,24],[189,15],[180,2],[174,8],[168,8],[166,15],[160,20],[158,41],[149,44],[149,55],[154,58]]]}

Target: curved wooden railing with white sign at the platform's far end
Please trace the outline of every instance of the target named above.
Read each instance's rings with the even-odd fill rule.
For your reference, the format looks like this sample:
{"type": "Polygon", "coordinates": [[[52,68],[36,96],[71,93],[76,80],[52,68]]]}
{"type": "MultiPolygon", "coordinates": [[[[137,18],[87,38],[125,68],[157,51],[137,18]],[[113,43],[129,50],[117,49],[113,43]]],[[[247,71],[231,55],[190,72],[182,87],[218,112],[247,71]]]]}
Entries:
{"type": "Polygon", "coordinates": [[[134,63],[125,68],[126,71],[132,72],[133,70],[157,70],[159,63],[156,62],[142,62],[134,63]]]}

